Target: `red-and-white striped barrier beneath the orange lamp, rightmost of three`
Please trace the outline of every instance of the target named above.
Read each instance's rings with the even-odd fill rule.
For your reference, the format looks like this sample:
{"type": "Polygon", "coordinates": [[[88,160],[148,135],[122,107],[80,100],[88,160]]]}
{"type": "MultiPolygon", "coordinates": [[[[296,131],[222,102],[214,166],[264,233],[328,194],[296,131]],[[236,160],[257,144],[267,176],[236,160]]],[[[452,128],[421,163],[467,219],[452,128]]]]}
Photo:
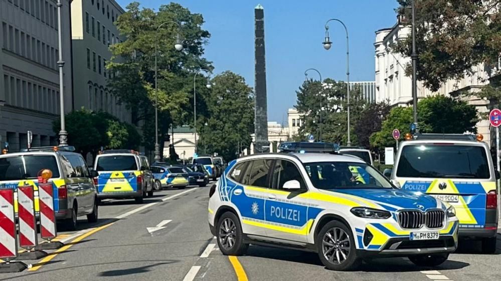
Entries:
{"type": "Polygon", "coordinates": [[[40,198],[40,236],[42,239],[50,241],[57,236],[52,183],[39,183],[38,194],[40,198]]]}

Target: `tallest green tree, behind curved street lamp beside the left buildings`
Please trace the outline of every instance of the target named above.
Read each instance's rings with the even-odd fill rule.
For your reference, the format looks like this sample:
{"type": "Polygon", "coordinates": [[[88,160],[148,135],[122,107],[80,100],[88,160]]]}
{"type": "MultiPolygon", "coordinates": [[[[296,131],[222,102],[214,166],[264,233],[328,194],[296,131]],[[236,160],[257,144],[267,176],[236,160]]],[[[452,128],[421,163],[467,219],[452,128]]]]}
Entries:
{"type": "MultiPolygon", "coordinates": [[[[166,138],[171,124],[193,120],[193,73],[200,68],[212,69],[211,63],[202,58],[203,46],[210,37],[209,32],[202,29],[203,24],[201,14],[191,13],[176,3],[162,5],[155,12],[141,9],[139,3],[133,2],[116,21],[120,35],[127,39],[110,47],[113,58],[107,68],[115,75],[109,87],[119,102],[131,110],[132,123],[143,126],[143,144],[147,149],[153,149],[155,135],[155,37],[158,39],[158,129],[163,146],[161,140],[166,138]],[[165,24],[156,33],[158,26],[170,21],[181,25],[179,34],[185,47],[182,52],[174,49],[177,25],[165,24]]],[[[207,95],[204,88],[200,89],[201,97],[207,95]]],[[[204,109],[202,106],[201,110],[204,109]]]]}

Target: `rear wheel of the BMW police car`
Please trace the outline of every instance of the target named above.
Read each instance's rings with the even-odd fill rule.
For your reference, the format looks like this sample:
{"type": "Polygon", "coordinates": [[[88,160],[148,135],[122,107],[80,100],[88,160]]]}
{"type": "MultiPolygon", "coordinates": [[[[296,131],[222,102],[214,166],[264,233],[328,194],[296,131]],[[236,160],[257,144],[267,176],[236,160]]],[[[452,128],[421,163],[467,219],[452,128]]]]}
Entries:
{"type": "Polygon", "coordinates": [[[219,249],[224,255],[242,255],[249,247],[249,244],[244,243],[240,220],[232,212],[225,212],[219,218],[216,237],[219,249]]]}

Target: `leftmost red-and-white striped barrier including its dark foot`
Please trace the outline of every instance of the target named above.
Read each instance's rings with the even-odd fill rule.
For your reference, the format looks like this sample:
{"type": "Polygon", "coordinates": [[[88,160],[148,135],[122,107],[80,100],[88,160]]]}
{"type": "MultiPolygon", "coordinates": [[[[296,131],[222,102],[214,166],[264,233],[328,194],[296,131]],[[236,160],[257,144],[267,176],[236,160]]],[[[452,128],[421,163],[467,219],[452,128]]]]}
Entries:
{"type": "Polygon", "coordinates": [[[0,273],[21,272],[27,268],[24,262],[12,261],[18,256],[14,189],[0,189],[0,273]]]}

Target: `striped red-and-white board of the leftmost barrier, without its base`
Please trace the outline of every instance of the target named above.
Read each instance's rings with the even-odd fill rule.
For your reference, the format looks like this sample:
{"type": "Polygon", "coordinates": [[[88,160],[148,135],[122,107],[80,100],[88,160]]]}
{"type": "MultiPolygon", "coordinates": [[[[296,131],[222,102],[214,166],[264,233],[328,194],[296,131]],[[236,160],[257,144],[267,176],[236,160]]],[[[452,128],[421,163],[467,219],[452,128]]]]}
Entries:
{"type": "Polygon", "coordinates": [[[0,258],[7,261],[18,256],[14,189],[0,189],[0,258]]]}

